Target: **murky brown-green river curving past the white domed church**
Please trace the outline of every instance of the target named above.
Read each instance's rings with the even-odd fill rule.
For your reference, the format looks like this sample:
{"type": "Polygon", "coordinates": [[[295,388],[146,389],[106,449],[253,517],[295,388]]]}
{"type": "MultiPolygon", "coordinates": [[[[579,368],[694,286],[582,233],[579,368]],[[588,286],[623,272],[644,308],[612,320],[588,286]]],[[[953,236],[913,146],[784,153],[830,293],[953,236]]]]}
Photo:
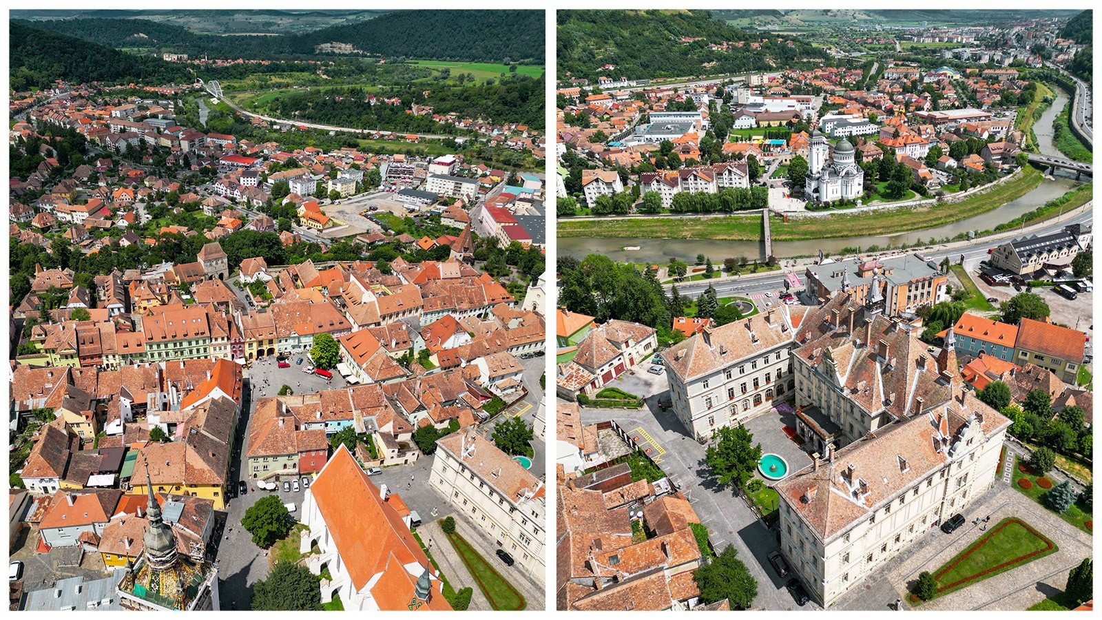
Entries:
{"type": "MultiPolygon", "coordinates": [[[[1068,103],[1068,95],[1060,89],[1057,89],[1056,94],[1056,100],[1034,124],[1034,132],[1037,135],[1038,149],[1041,153],[1062,157],[1052,141],[1052,120],[1063,109],[1065,104],[1068,103]]],[[[773,252],[777,257],[814,256],[819,254],[819,250],[822,250],[824,254],[839,254],[846,247],[869,247],[872,245],[885,247],[887,245],[898,246],[903,243],[911,245],[931,237],[938,239],[954,237],[959,233],[990,229],[1001,222],[1014,220],[1023,213],[1028,213],[1041,204],[1059,197],[1076,185],[1077,182],[1073,174],[1057,171],[1055,178],[1046,179],[1037,189],[1026,195],[1011,201],[998,209],[988,211],[982,215],[969,217],[968,220],[961,220],[960,222],[898,235],[840,237],[799,242],[775,240],[773,243],[773,252]]],[[[672,225],[676,225],[676,223],[672,225]]],[[[760,257],[764,253],[764,243],[635,237],[565,237],[559,239],[559,253],[564,256],[570,255],[579,258],[591,253],[598,253],[608,256],[613,260],[625,263],[666,263],[671,256],[680,260],[692,261],[698,254],[703,254],[719,261],[727,257],[760,257]],[[639,249],[627,252],[623,249],[625,246],[638,246],[639,249]]]]}

